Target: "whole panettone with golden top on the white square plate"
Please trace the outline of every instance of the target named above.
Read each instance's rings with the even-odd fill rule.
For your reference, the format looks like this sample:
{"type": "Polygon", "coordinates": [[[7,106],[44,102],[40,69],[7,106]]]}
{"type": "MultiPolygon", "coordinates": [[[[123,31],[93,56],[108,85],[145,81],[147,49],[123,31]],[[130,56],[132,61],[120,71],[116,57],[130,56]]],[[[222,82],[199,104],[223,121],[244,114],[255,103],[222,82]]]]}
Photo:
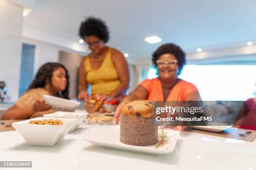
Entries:
{"type": "Polygon", "coordinates": [[[158,126],[154,110],[155,105],[149,100],[135,100],[124,105],[120,115],[120,142],[136,146],[156,144],[158,126]]]}

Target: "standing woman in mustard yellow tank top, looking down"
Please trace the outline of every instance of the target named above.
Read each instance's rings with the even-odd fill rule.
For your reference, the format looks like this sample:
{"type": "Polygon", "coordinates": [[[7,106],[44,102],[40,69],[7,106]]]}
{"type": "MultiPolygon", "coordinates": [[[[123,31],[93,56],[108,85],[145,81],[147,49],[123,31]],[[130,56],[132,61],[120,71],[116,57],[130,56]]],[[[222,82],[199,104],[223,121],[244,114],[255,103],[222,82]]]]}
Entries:
{"type": "Polygon", "coordinates": [[[91,52],[80,64],[79,99],[87,100],[87,84],[99,100],[112,100],[125,93],[130,77],[123,54],[105,45],[109,40],[108,27],[99,18],[87,18],[80,25],[79,35],[91,52]]]}

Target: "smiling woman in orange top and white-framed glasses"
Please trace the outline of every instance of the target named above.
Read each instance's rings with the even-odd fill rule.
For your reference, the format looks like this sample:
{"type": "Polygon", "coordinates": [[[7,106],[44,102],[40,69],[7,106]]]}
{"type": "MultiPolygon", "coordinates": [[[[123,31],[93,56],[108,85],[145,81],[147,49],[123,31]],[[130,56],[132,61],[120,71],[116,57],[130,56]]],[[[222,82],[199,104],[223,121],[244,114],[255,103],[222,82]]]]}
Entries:
{"type": "MultiPolygon", "coordinates": [[[[179,79],[186,60],[183,50],[175,44],[161,45],[152,55],[159,77],[144,80],[115,110],[115,122],[118,124],[120,109],[128,102],[138,99],[152,101],[200,101],[197,87],[190,82],[179,79]]],[[[175,130],[183,130],[178,126],[175,130]]]]}

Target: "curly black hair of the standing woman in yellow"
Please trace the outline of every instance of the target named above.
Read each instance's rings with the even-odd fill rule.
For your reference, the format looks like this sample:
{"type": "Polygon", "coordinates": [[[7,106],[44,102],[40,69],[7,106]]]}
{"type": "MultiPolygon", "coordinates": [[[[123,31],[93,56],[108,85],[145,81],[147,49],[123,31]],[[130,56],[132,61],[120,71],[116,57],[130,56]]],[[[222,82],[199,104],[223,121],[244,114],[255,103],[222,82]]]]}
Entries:
{"type": "Polygon", "coordinates": [[[100,18],[85,18],[80,25],[79,36],[84,39],[84,37],[90,35],[94,35],[100,38],[104,43],[107,43],[109,40],[108,26],[100,18]]]}

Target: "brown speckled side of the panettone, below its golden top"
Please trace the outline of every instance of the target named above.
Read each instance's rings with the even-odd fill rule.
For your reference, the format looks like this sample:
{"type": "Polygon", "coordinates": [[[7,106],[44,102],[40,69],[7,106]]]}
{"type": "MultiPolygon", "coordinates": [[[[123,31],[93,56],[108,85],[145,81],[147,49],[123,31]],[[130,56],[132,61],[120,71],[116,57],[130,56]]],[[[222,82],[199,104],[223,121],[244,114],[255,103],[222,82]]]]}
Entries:
{"type": "Polygon", "coordinates": [[[120,115],[120,142],[128,145],[147,146],[158,142],[155,117],[120,115]]]}

